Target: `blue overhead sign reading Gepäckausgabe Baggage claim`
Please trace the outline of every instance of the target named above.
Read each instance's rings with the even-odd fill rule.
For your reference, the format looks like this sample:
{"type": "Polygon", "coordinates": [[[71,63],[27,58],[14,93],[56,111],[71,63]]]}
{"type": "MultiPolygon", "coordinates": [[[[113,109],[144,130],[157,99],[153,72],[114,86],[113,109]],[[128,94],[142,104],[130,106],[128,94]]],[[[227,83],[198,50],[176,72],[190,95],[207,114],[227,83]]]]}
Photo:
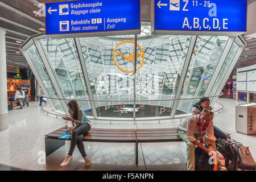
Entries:
{"type": "Polygon", "coordinates": [[[46,34],[141,30],[140,0],[46,3],[46,34]]]}

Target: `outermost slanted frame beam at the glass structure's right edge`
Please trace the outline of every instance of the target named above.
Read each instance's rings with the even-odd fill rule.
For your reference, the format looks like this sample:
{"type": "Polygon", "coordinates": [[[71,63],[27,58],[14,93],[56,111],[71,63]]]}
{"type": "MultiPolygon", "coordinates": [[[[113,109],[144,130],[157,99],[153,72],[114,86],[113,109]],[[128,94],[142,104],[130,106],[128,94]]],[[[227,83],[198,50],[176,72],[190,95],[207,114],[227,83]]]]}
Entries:
{"type": "MultiPolygon", "coordinates": [[[[214,93],[214,95],[219,95],[221,93],[221,90],[224,88],[226,80],[228,80],[229,75],[231,74],[231,72],[233,71],[234,66],[237,63],[238,58],[240,57],[241,53],[243,51],[243,47],[239,47],[236,55],[233,57],[232,62],[229,65],[228,71],[226,71],[224,77],[222,78],[221,84],[218,87],[218,89],[216,90],[216,93],[214,93]]],[[[236,91],[237,92],[237,91],[236,91]]],[[[211,105],[214,104],[217,101],[218,97],[213,97],[212,101],[211,101],[211,105]]],[[[238,102],[238,92],[237,92],[237,102],[238,102]]]]}

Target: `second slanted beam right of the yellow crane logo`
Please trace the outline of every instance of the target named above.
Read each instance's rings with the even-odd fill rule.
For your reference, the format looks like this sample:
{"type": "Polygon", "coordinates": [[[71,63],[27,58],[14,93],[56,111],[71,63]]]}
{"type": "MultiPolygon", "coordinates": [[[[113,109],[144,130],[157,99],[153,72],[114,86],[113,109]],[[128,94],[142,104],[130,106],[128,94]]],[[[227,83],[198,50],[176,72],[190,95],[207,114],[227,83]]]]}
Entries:
{"type": "Polygon", "coordinates": [[[224,50],[222,51],[222,54],[221,54],[220,60],[218,61],[217,67],[214,69],[214,72],[212,74],[212,77],[210,78],[209,84],[207,85],[207,88],[205,89],[204,97],[209,97],[210,91],[212,90],[213,85],[216,82],[218,74],[221,71],[221,67],[223,66],[223,64],[226,60],[226,57],[229,54],[229,51],[234,43],[235,38],[236,37],[234,37],[234,36],[229,37],[228,42],[226,43],[226,46],[225,46],[224,50]]]}

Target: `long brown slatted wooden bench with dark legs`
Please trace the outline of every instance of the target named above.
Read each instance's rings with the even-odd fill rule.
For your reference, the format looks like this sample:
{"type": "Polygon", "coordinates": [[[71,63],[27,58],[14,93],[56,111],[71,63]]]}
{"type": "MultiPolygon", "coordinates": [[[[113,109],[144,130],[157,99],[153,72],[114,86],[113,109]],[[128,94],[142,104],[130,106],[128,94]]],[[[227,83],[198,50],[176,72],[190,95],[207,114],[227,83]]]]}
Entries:
{"type": "MultiPolygon", "coordinates": [[[[59,139],[65,133],[64,127],[45,135],[46,156],[64,146],[65,140],[59,139]]],[[[229,136],[230,134],[226,134],[229,136]]],[[[138,143],[146,142],[180,142],[175,128],[167,129],[91,129],[84,142],[122,142],[134,143],[135,162],[138,164],[138,143]]]]}

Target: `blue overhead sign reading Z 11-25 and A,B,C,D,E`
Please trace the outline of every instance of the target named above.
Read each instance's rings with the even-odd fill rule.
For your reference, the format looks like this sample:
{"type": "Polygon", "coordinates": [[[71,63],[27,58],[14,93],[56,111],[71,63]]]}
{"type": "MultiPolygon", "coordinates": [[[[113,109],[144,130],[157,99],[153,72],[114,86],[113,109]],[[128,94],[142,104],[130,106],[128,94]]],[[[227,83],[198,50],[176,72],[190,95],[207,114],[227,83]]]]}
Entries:
{"type": "Polygon", "coordinates": [[[237,36],[246,20],[247,0],[151,0],[152,34],[237,36]]]}

